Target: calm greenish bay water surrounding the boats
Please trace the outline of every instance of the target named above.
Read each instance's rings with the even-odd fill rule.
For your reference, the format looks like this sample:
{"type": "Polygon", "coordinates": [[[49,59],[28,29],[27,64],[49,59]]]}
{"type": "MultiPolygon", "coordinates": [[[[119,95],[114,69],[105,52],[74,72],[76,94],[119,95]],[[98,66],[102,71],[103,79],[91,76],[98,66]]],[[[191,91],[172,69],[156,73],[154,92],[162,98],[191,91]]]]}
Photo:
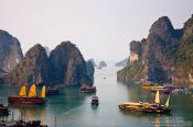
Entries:
{"type": "MultiPolygon", "coordinates": [[[[127,101],[153,101],[154,94],[141,90],[139,84],[117,82],[116,71],[119,69],[115,67],[96,69],[98,106],[90,105],[94,94],[79,94],[76,88],[64,88],[61,89],[60,95],[49,96],[49,104],[45,106],[11,106],[13,115],[0,118],[41,119],[51,127],[55,125],[57,127],[149,127],[171,120],[193,124],[193,99],[189,95],[171,96],[171,115],[120,112],[119,104],[127,101]]],[[[3,97],[6,105],[7,96],[18,93],[19,89],[0,85],[0,96],[3,97]]],[[[161,95],[161,102],[165,103],[165,100],[167,95],[161,95]]]]}

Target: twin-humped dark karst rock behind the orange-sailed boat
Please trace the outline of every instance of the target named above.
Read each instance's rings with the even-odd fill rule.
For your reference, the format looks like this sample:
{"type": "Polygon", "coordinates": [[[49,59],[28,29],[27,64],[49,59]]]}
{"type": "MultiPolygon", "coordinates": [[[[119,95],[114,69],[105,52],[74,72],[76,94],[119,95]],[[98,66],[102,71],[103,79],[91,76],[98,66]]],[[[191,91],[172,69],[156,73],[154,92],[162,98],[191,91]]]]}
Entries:
{"type": "Polygon", "coordinates": [[[25,83],[93,85],[93,68],[89,64],[86,65],[81,51],[71,42],[61,43],[52,50],[50,57],[45,48],[37,44],[26,53],[15,69],[3,78],[3,81],[15,85],[25,83]]]}

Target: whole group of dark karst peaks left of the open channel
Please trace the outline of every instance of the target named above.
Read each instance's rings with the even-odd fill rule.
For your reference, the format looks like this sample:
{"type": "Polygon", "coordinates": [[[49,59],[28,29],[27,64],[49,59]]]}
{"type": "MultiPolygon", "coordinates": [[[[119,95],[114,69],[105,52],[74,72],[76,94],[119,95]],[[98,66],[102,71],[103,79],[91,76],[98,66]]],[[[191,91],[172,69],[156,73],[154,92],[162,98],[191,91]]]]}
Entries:
{"type": "Polygon", "coordinates": [[[37,44],[23,58],[19,41],[0,30],[0,82],[93,85],[94,67],[74,44],[63,42],[51,54],[45,48],[37,44]]]}

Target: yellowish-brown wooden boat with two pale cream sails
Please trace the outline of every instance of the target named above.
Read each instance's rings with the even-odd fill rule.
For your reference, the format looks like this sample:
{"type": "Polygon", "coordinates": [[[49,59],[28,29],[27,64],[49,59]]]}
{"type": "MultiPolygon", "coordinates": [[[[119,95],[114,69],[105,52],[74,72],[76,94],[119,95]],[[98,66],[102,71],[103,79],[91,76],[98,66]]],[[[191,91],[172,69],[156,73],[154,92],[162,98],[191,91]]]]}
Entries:
{"type": "Polygon", "coordinates": [[[170,113],[171,108],[169,106],[170,95],[164,105],[160,104],[160,95],[159,91],[157,91],[156,100],[153,103],[150,102],[127,102],[119,105],[119,109],[121,111],[140,111],[144,113],[170,113]]]}

